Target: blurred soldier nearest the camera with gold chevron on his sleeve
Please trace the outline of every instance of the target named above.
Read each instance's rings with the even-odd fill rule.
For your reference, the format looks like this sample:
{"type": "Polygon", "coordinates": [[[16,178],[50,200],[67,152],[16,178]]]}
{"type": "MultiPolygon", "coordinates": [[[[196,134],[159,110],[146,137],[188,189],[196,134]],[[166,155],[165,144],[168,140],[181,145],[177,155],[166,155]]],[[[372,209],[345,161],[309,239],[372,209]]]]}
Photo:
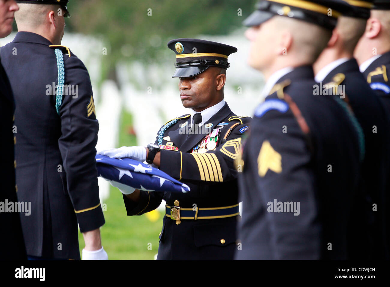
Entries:
{"type": "Polygon", "coordinates": [[[237,259],[347,258],[364,139],[346,103],[314,95],[311,65],[339,15],[328,6],[334,1],[318,2],[262,1],[244,21],[252,26],[248,61],[266,77],[268,96],[255,109],[238,160],[244,168],[237,259]]]}

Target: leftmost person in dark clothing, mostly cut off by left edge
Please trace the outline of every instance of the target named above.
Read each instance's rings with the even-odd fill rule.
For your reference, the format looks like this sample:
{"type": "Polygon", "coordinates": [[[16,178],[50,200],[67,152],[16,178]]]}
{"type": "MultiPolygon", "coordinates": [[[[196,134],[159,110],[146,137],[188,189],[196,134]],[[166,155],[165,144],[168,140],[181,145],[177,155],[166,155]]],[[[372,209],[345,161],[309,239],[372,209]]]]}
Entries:
{"type": "MultiPolygon", "coordinates": [[[[14,13],[18,11],[15,0],[0,0],[0,38],[12,32],[14,13]]],[[[15,204],[15,166],[14,134],[12,134],[14,117],[14,98],[4,68],[0,63],[0,260],[26,259],[26,250],[17,210],[8,212],[8,203],[15,204]]],[[[22,214],[24,216],[24,214],[22,214]]]]}

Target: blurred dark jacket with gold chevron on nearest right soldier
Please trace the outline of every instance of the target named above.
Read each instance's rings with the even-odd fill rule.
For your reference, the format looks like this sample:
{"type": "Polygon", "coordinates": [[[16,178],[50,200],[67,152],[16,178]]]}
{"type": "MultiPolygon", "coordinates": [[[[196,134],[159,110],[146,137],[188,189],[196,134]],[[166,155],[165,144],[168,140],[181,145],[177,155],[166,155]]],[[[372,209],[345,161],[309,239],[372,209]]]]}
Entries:
{"type": "Polygon", "coordinates": [[[255,111],[239,176],[236,259],[347,257],[361,149],[346,107],[314,95],[313,78],[310,66],[295,68],[255,111]]]}

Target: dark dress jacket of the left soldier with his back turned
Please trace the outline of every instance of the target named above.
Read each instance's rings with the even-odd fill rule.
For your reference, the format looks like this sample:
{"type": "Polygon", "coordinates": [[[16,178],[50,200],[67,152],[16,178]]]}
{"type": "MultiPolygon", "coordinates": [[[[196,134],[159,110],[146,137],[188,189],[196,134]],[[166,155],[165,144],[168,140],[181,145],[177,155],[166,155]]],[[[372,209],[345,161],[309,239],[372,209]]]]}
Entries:
{"type": "Polygon", "coordinates": [[[1,49],[16,102],[18,198],[32,209],[21,222],[28,255],[80,259],[77,223],[87,232],[105,222],[95,161],[99,124],[87,69],[67,48],[50,45],[19,32],[1,49]],[[55,48],[64,50],[65,87],[78,91],[64,91],[59,115],[55,48]]]}

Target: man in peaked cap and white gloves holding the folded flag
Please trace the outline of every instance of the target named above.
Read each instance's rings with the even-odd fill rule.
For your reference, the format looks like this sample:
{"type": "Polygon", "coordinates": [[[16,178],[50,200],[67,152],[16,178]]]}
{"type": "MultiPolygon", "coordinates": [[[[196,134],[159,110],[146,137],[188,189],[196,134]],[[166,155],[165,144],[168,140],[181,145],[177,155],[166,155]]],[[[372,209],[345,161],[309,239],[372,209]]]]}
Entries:
{"type": "Polygon", "coordinates": [[[234,160],[250,121],[236,116],[223,100],[227,58],[237,49],[200,39],[174,39],[168,47],[176,53],[172,77],[179,78],[180,98],[190,114],[167,121],[148,148],[99,153],[146,159],[191,188],[183,194],[120,188],[128,194],[123,198],[129,216],[166,201],[158,260],[232,260],[239,217],[234,160]]]}

